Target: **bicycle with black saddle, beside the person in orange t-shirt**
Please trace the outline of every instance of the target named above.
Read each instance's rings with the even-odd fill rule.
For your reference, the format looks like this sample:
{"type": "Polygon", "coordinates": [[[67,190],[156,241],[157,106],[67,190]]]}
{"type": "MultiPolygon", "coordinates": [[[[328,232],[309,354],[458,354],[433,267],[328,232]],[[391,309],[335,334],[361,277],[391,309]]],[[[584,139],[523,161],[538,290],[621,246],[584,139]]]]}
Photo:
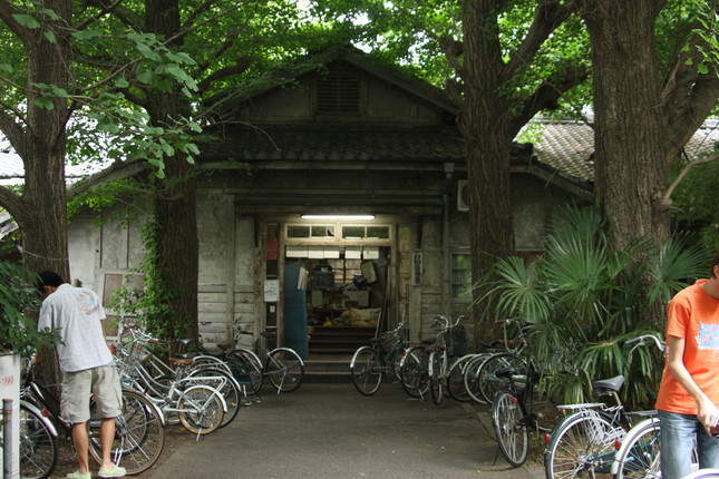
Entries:
{"type": "MultiPolygon", "coordinates": [[[[663,344],[652,334],[642,334],[624,341],[633,344],[632,352],[651,340],[658,349],[663,351],[663,344]]],[[[613,398],[615,405],[591,404],[580,408],[579,411],[564,418],[554,429],[545,451],[545,471],[547,479],[564,476],[586,473],[614,473],[622,470],[618,466],[618,444],[625,447],[628,431],[635,426],[634,418],[651,418],[655,411],[626,411],[619,398],[619,390],[624,382],[624,377],[619,375],[610,380],[593,383],[593,391],[597,395],[613,398]]],[[[582,404],[579,404],[582,405],[582,404]]],[[[649,420],[651,421],[651,419],[649,420]]],[[[642,421],[648,424],[648,421],[642,421]]]]}

